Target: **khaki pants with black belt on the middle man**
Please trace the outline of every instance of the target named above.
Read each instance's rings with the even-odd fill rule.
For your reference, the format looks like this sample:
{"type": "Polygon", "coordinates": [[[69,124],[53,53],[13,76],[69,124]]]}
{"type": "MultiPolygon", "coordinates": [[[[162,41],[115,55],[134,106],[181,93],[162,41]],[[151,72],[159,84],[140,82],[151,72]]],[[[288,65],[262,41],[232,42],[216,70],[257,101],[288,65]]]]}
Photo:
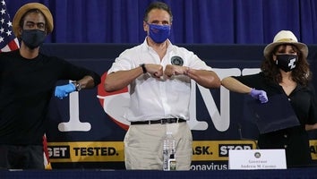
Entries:
{"type": "Polygon", "coordinates": [[[163,140],[167,130],[173,132],[176,139],[176,169],[189,170],[193,156],[193,137],[186,123],[131,125],[124,137],[126,169],[162,170],[163,140]]]}

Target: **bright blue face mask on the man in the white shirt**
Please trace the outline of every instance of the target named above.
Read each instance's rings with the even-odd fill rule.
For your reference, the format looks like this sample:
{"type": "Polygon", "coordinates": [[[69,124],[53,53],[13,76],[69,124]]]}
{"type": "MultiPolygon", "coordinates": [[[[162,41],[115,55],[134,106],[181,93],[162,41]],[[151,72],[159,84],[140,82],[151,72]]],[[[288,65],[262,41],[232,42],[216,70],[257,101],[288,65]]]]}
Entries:
{"type": "Polygon", "coordinates": [[[155,43],[162,43],[169,37],[171,26],[170,25],[158,25],[158,24],[150,24],[149,25],[149,37],[155,43]]]}

